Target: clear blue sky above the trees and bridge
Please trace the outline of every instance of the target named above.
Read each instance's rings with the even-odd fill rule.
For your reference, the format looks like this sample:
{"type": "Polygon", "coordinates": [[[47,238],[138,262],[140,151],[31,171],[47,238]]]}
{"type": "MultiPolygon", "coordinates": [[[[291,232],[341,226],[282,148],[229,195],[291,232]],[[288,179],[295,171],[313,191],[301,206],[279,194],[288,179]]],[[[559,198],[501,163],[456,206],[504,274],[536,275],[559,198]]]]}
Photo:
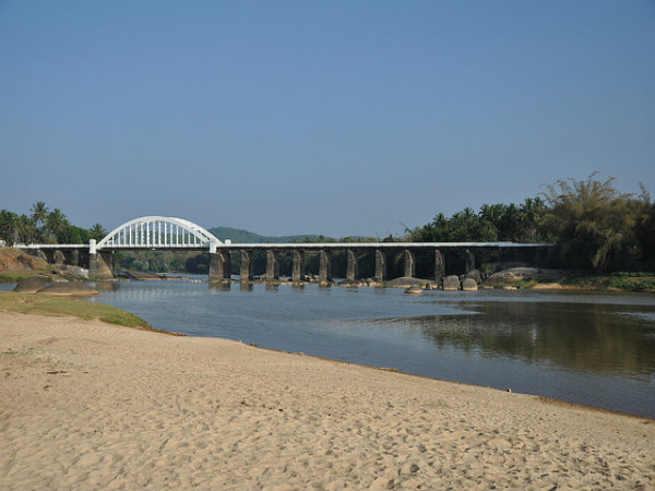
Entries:
{"type": "Polygon", "coordinates": [[[654,1],[0,0],[17,213],[383,237],[654,157],[654,1]]]}

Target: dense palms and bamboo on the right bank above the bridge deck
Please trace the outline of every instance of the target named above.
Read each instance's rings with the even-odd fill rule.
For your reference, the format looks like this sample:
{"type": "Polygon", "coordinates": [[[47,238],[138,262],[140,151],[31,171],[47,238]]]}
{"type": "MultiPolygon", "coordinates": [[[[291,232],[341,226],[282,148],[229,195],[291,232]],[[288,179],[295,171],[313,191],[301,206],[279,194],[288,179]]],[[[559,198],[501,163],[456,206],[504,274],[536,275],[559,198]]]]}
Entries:
{"type": "Polygon", "coordinates": [[[555,267],[604,271],[655,270],[655,203],[641,184],[639,195],[621,193],[616,179],[558,180],[523,203],[483,205],[412,230],[410,241],[512,241],[555,243],[555,267]]]}

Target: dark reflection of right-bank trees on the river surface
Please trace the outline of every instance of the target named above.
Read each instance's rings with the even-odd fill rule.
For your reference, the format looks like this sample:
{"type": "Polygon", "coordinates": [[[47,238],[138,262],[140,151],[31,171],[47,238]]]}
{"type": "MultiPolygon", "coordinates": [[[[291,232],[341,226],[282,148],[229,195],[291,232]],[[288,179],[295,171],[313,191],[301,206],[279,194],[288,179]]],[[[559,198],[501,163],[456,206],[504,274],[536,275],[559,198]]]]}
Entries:
{"type": "MultiPolygon", "coordinates": [[[[621,306],[557,302],[480,302],[481,315],[431,315],[393,320],[419,328],[438,348],[485,357],[521,358],[562,368],[648,380],[655,372],[655,330],[621,306]]],[[[377,321],[389,322],[389,321],[377,321]]]]}

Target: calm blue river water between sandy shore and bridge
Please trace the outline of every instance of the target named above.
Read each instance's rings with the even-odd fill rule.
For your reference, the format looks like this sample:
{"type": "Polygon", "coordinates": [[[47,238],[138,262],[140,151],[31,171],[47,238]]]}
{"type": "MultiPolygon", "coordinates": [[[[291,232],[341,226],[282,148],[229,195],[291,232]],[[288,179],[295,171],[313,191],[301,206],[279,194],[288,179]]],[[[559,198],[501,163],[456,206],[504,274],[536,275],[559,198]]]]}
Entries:
{"type": "Polygon", "coordinates": [[[153,326],[655,418],[655,296],[124,282],[153,326]]]}

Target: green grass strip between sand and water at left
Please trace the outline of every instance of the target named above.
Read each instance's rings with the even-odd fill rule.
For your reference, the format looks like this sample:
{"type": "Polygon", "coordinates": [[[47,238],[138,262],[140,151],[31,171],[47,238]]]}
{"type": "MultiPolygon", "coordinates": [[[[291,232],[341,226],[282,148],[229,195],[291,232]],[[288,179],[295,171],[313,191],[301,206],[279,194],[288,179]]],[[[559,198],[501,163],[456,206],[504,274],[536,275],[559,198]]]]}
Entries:
{"type": "Polygon", "coordinates": [[[72,315],[83,320],[99,320],[143,331],[157,331],[143,319],[104,303],[76,298],[48,297],[16,291],[0,291],[0,312],[32,313],[40,315],[72,315]]]}

